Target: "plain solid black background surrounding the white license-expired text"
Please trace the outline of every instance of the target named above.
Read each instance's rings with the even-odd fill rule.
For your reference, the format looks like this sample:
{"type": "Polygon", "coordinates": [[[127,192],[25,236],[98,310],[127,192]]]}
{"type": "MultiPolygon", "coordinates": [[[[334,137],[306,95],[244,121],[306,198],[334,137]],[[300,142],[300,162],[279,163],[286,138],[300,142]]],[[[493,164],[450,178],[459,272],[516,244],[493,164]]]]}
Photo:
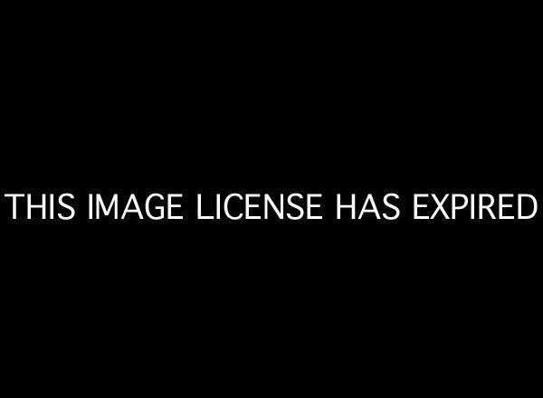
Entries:
{"type": "Polygon", "coordinates": [[[335,392],[530,377],[540,215],[416,223],[410,197],[540,200],[536,26],[319,11],[27,10],[6,28],[3,194],[328,201],[296,224],[4,218],[11,374],[335,392]],[[333,221],[334,194],[387,192],[398,222],[333,221]]]}

